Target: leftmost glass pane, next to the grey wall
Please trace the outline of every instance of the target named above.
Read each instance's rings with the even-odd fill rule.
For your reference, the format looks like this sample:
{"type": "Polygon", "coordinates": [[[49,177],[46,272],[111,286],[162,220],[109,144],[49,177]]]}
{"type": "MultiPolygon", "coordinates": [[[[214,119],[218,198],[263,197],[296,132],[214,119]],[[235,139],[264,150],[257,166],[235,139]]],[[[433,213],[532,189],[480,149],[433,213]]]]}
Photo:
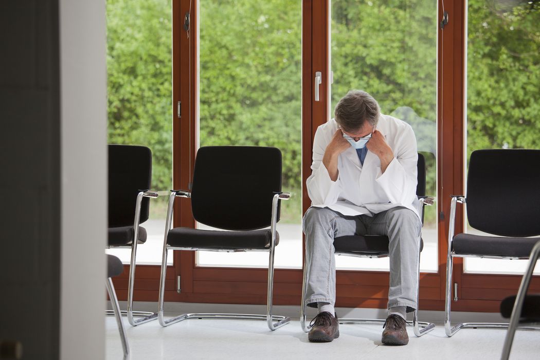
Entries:
{"type": "MultiPolygon", "coordinates": [[[[171,0],[107,0],[109,144],[152,151],[152,189],[172,187],[171,0]]],[[[160,264],[167,196],[150,200],[137,263],[160,264]]],[[[110,249],[124,263],[130,249],[110,249]]],[[[172,263],[172,256],[168,257],[172,263]]]]}

